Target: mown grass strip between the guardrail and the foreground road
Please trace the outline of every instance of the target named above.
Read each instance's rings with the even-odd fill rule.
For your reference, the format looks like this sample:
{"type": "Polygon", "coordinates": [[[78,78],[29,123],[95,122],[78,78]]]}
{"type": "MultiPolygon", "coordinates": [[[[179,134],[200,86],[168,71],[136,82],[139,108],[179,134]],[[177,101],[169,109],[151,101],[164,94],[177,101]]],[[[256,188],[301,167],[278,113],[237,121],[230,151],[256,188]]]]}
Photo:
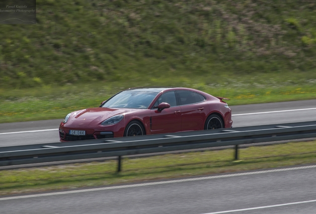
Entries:
{"type": "Polygon", "coordinates": [[[316,141],[0,171],[0,195],[211,175],[316,162],[316,141]]]}

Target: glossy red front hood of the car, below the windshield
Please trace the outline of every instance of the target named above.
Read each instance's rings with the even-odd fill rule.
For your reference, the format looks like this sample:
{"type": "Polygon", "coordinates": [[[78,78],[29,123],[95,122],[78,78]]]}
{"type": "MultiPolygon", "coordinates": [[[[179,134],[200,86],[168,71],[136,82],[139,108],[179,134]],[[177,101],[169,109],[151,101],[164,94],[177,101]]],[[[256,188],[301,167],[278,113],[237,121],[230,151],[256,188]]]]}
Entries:
{"type": "Polygon", "coordinates": [[[117,114],[124,114],[132,109],[126,108],[87,108],[72,112],[70,118],[64,126],[80,128],[80,127],[95,127],[104,120],[117,114]]]}

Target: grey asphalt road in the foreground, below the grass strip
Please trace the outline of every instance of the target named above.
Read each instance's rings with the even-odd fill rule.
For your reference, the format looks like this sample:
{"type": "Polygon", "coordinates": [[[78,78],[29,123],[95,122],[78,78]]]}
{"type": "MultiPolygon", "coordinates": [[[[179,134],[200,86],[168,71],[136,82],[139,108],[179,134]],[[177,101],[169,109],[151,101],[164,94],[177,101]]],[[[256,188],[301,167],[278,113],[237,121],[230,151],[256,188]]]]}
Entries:
{"type": "Polygon", "coordinates": [[[0,198],[1,214],[315,214],[316,165],[0,198]]]}

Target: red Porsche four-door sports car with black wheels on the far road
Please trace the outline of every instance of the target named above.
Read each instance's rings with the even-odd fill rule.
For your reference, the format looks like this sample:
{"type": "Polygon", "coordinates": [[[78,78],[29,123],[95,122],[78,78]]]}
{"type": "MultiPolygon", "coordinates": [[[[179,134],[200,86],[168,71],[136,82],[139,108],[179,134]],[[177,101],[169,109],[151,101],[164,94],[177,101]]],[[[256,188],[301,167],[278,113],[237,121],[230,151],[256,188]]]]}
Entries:
{"type": "Polygon", "coordinates": [[[60,141],[230,128],[232,110],[223,100],[189,88],[127,89],[100,107],[69,113],[60,141]]]}

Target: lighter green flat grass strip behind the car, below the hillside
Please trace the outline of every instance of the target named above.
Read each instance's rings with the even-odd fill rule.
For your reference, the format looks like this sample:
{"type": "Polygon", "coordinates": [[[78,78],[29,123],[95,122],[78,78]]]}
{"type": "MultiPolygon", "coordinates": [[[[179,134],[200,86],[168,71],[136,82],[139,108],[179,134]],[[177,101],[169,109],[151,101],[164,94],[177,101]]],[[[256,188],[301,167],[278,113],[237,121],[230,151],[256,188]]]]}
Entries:
{"type": "MultiPolygon", "coordinates": [[[[314,73],[310,74],[315,75],[314,73]]],[[[63,87],[43,86],[29,89],[0,89],[0,123],[60,119],[69,112],[100,103],[122,89],[134,86],[182,86],[202,90],[219,97],[227,97],[230,106],[316,99],[316,81],[293,76],[292,79],[239,76],[206,84],[199,77],[149,82],[103,82],[72,84],[63,87]]]]}

